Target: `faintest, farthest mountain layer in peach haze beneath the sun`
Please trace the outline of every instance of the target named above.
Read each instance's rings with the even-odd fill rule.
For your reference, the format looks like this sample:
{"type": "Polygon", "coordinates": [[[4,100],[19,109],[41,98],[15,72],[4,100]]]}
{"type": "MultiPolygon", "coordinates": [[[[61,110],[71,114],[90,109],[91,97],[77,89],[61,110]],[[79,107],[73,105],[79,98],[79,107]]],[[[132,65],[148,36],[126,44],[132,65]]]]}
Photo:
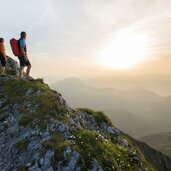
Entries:
{"type": "Polygon", "coordinates": [[[94,87],[114,87],[119,90],[129,90],[134,87],[144,87],[161,95],[171,94],[171,78],[164,74],[121,75],[119,73],[86,79],[86,83],[94,87]]]}

